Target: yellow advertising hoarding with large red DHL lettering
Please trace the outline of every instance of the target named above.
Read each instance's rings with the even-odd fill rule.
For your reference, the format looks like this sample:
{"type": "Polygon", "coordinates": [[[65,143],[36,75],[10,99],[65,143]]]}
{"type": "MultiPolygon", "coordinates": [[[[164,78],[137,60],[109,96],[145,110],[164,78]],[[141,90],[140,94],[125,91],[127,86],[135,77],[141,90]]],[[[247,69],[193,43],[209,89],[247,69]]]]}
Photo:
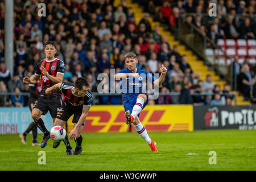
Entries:
{"type": "MultiPolygon", "coordinates": [[[[123,106],[92,106],[86,117],[83,132],[126,132],[123,106]]],[[[73,128],[73,116],[68,120],[68,131],[73,128]]],[[[193,107],[190,105],[146,106],[139,119],[147,131],[193,131],[193,107]]],[[[131,131],[135,131],[131,126],[131,131]]]]}

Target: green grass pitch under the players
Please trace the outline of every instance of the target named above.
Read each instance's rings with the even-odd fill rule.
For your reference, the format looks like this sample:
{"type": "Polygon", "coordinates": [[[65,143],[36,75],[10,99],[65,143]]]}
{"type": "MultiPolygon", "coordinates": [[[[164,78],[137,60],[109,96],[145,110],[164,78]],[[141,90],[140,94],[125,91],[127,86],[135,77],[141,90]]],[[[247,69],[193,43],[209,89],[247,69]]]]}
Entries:
{"type": "MultiPolygon", "coordinates": [[[[82,154],[66,155],[64,143],[52,148],[27,146],[18,135],[0,135],[0,170],[255,170],[256,130],[151,132],[159,152],[137,133],[83,133],[82,154]],[[39,165],[39,151],[46,151],[46,165],[39,165]],[[217,164],[210,165],[209,151],[217,164]]],[[[42,135],[38,136],[42,142],[42,135]]],[[[71,140],[75,150],[75,141],[71,140]]]]}

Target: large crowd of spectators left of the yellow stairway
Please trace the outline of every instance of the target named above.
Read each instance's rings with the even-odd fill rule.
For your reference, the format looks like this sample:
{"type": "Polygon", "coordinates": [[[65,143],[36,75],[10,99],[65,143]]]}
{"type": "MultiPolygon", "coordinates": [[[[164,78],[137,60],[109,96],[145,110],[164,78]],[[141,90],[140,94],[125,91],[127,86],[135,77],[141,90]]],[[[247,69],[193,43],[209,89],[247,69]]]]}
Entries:
{"type": "MultiPolygon", "coordinates": [[[[149,5],[155,6],[155,2],[150,1],[149,5]]],[[[185,4],[183,9],[193,8],[185,4]]],[[[0,1],[0,92],[15,93],[7,97],[6,106],[26,106],[27,98],[19,96],[19,92],[28,92],[22,78],[31,77],[35,64],[45,59],[43,49],[48,41],[56,43],[56,57],[65,63],[64,81],[75,82],[77,77],[86,77],[92,92],[97,92],[97,85],[102,81],[97,80],[99,73],[110,75],[110,68],[115,68],[117,73],[125,68],[124,55],[135,52],[138,68],[150,73],[160,73],[162,64],[168,68],[160,90],[176,92],[178,96],[159,96],[149,104],[231,104],[232,98],[224,94],[229,88],[217,92],[210,75],[207,80],[200,80],[200,75],[187,63],[187,56],[180,55],[177,46],[171,48],[166,36],[160,35],[159,26],[151,27],[150,14],[145,13],[136,24],[133,9],[127,7],[125,0],[117,7],[112,0],[15,0],[14,10],[14,75],[10,75],[3,62],[5,5],[0,1]],[[37,13],[41,2],[46,3],[45,17],[37,13]],[[205,92],[216,96],[196,95],[205,92]]],[[[104,89],[110,90],[116,84],[109,82],[104,89]]],[[[96,101],[97,104],[121,104],[121,97],[101,96],[96,101]]],[[[3,96],[0,104],[3,106],[3,96]]]]}

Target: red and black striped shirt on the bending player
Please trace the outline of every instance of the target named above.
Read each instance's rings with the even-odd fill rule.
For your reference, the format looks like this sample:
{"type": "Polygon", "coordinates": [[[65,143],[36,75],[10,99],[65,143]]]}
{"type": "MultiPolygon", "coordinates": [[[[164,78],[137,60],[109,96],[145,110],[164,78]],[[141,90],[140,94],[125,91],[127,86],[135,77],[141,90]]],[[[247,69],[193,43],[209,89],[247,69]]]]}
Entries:
{"type": "Polygon", "coordinates": [[[72,82],[63,82],[60,86],[61,92],[65,96],[64,104],[71,107],[82,107],[92,105],[92,93],[88,90],[84,97],[76,96],[73,93],[75,84],[72,82]]]}

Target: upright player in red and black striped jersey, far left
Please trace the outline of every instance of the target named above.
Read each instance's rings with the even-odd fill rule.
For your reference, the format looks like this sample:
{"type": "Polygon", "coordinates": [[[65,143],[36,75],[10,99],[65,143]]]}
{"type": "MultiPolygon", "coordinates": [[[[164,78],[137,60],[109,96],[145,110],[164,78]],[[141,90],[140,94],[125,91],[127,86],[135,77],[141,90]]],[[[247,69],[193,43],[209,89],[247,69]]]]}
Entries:
{"type": "Polygon", "coordinates": [[[61,93],[60,90],[52,92],[51,95],[46,95],[46,89],[63,81],[65,73],[65,66],[63,61],[55,58],[57,52],[55,43],[47,42],[44,46],[44,53],[46,53],[46,59],[39,61],[36,64],[35,75],[30,79],[28,77],[23,78],[25,84],[36,84],[41,77],[41,94],[38,100],[35,102],[32,109],[32,118],[37,127],[43,132],[44,138],[41,143],[41,147],[44,148],[47,145],[47,141],[50,138],[49,131],[46,129],[41,115],[46,114],[48,111],[51,114],[53,123],[55,121],[57,110],[61,106],[61,93]]]}

